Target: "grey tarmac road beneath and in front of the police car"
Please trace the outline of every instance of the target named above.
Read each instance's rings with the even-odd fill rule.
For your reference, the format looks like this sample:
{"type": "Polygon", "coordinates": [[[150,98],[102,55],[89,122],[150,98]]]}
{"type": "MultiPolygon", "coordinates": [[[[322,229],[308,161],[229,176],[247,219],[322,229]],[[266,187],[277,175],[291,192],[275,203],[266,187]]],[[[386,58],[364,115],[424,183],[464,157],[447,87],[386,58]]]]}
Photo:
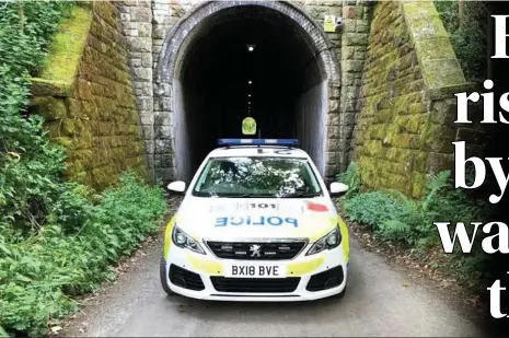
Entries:
{"type": "MultiPolygon", "coordinates": [[[[159,238],[162,237],[162,234],[159,238]]],[[[424,284],[351,238],[351,279],[343,300],[299,303],[205,302],[166,298],[159,281],[162,244],[144,248],[136,268],[106,288],[60,336],[354,337],[483,336],[424,284]],[[408,283],[406,285],[406,283],[408,283]]]]}

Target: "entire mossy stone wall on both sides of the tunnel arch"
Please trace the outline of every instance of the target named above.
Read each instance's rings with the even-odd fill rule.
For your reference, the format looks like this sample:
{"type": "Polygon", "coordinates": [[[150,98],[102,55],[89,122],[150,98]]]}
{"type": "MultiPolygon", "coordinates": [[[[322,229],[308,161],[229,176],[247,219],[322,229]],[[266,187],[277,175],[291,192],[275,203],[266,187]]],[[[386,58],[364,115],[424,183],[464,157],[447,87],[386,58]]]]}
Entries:
{"type": "MultiPolygon", "coordinates": [[[[175,144],[174,88],[158,78],[159,61],[171,55],[166,61],[177,62],[183,36],[236,2],[203,4],[80,2],[33,86],[33,109],[68,149],[70,176],[99,189],[126,168],[164,182],[175,177],[176,150],[185,148],[175,144]],[[171,32],[180,35],[164,45],[171,32]]],[[[325,60],[328,96],[316,102],[327,107],[324,160],[317,156],[326,163],[325,176],[354,160],[369,188],[419,196],[427,176],[451,166],[452,141],[482,142],[475,126],[453,127],[453,93],[466,83],[432,2],[263,5],[304,27],[320,49],[316,58],[325,60]],[[325,14],[343,16],[338,32],[317,30],[325,14]]]]}

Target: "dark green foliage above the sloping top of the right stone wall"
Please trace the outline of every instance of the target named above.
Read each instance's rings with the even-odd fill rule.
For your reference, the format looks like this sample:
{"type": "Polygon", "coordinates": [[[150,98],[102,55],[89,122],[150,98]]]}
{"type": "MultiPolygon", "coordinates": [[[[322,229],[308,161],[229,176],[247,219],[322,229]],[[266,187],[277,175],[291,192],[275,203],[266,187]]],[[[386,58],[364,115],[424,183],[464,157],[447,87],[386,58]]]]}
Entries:
{"type": "Polygon", "coordinates": [[[487,20],[489,10],[483,1],[464,1],[460,20],[459,1],[436,0],[435,7],[467,81],[484,81],[487,74],[487,20]]]}

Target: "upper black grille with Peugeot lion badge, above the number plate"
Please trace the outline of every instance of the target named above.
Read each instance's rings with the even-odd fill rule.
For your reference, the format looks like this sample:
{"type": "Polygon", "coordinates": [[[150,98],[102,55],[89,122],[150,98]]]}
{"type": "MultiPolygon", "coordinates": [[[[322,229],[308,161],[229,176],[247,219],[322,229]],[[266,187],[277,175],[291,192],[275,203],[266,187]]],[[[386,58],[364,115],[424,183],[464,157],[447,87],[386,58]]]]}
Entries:
{"type": "Polygon", "coordinates": [[[292,259],[304,248],[305,241],[288,242],[215,242],[208,241],[208,247],[219,258],[244,260],[284,260],[292,259]],[[253,250],[259,246],[259,256],[253,250]]]}

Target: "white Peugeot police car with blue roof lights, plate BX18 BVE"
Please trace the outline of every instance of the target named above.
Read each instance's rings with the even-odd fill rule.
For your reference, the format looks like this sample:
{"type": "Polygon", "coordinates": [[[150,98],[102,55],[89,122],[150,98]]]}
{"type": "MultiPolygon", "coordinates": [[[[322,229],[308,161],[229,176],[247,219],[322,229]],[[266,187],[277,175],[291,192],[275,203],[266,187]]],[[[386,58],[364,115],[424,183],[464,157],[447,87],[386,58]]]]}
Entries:
{"type": "Polygon", "coordinates": [[[348,230],[298,140],[220,139],[166,225],[160,263],[167,294],[217,301],[342,296],[348,230]]]}

